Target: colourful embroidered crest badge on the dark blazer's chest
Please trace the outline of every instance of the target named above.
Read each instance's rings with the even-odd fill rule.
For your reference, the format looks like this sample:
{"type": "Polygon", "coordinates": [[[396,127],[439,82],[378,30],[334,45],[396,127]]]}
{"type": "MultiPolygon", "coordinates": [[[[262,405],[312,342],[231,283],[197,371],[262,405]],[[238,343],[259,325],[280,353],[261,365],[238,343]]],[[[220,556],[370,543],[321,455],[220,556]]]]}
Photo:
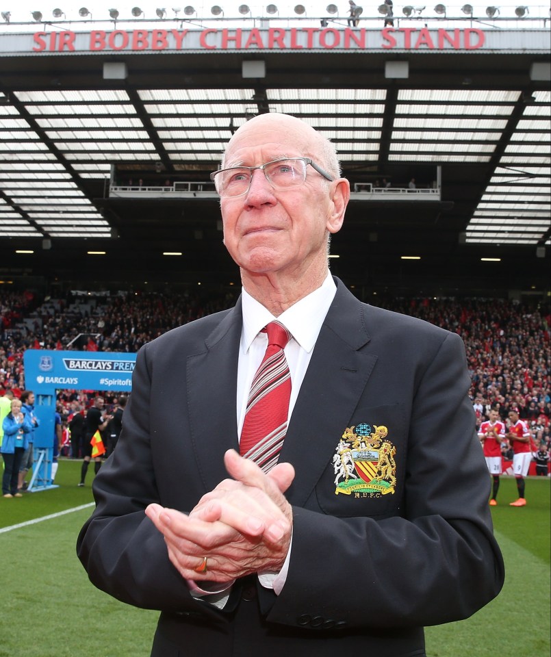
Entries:
{"type": "Polygon", "coordinates": [[[396,447],[388,428],[366,422],[346,427],[333,456],[335,495],[379,498],[394,493],[396,447]]]}

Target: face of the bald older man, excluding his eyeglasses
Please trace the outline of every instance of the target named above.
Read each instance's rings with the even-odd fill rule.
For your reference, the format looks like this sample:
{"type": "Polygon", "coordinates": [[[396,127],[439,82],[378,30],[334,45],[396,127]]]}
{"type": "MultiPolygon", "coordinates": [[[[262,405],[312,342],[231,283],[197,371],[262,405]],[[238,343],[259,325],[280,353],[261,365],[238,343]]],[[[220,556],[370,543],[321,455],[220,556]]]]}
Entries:
{"type": "MultiPolygon", "coordinates": [[[[253,119],[233,138],[225,166],[311,157],[323,168],[320,146],[305,128],[286,118],[281,123],[253,119]]],[[[242,270],[303,276],[326,261],[327,231],[336,233],[342,225],[348,188],[346,182],[325,182],[308,165],[303,185],[274,190],[264,172],[256,170],[246,194],[222,198],[224,243],[242,270]]]]}

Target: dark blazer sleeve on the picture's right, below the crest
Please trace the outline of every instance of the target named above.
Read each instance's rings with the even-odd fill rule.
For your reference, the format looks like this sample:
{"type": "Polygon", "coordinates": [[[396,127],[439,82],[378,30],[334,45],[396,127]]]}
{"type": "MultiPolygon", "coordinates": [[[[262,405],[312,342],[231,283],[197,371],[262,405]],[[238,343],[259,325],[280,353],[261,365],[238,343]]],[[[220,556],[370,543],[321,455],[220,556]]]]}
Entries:
{"type": "Polygon", "coordinates": [[[268,620],[291,626],[428,626],[472,615],[502,587],[459,336],[426,366],[409,418],[401,517],[294,508],[287,580],[268,620]]]}

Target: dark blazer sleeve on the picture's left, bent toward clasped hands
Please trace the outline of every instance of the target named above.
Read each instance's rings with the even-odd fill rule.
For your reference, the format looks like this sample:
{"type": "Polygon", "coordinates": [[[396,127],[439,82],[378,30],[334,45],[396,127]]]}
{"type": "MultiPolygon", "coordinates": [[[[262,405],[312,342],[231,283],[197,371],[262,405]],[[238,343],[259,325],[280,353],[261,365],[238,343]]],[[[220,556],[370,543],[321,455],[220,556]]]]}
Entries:
{"type": "Polygon", "coordinates": [[[138,352],[120,439],[94,479],[96,509],[82,528],[77,554],[92,583],[118,600],[148,609],[216,614],[194,600],[168,559],[162,534],[144,514],[161,503],[149,426],[151,369],[138,352]]]}

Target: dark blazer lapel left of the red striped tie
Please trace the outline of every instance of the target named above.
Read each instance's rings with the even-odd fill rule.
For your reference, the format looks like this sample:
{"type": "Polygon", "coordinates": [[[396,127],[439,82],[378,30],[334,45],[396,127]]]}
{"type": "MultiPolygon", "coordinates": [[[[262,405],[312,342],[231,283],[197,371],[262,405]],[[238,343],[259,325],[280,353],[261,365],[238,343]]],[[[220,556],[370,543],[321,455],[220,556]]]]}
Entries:
{"type": "Polygon", "coordinates": [[[222,454],[239,451],[235,398],[242,330],[241,301],[187,359],[188,417],[198,470],[212,490],[228,474],[222,454]]]}

